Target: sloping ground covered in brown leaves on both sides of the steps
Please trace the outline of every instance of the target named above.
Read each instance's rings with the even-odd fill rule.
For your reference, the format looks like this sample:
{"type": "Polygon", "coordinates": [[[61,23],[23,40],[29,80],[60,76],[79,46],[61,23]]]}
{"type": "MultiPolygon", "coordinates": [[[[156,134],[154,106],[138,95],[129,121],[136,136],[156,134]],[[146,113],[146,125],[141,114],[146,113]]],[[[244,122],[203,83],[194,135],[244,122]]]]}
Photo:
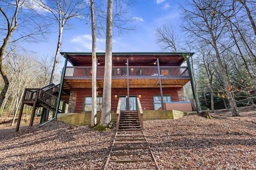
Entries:
{"type": "MultiPolygon", "coordinates": [[[[241,117],[218,111],[211,120],[189,115],[144,121],[160,169],[256,169],[256,109],[240,111],[241,117]]],[[[19,132],[1,126],[0,169],[100,170],[114,135],[114,128],[98,132],[58,121],[19,132]]]]}

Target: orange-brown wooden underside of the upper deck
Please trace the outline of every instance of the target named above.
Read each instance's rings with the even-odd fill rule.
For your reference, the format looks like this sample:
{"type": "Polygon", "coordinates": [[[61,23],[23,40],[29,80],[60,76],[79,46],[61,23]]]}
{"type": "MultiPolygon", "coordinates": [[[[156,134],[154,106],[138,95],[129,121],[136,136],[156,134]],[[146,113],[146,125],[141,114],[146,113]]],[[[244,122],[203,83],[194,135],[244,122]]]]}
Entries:
{"type": "MultiPolygon", "coordinates": [[[[162,87],[183,87],[190,79],[161,79],[162,87]]],[[[97,88],[103,88],[104,80],[97,80],[97,88]]],[[[159,79],[129,79],[130,88],[159,88],[159,79]]],[[[92,88],[89,79],[65,79],[64,90],[71,88],[92,88]]],[[[112,88],[127,88],[127,79],[112,79],[112,88]]]]}

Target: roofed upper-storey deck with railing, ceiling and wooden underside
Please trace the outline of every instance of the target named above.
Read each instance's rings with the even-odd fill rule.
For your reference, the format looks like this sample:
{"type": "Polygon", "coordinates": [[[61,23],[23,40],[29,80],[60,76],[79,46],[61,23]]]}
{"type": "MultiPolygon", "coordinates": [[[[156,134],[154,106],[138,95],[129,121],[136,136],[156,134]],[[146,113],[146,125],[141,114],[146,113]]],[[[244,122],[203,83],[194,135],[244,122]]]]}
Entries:
{"type": "MultiPolygon", "coordinates": [[[[104,53],[96,53],[97,88],[103,88],[104,53]]],[[[62,53],[66,67],[64,89],[92,87],[92,53],[62,53]]],[[[113,53],[112,88],[183,87],[191,79],[190,53],[113,53]],[[161,82],[161,83],[160,83],[161,82]]]]}

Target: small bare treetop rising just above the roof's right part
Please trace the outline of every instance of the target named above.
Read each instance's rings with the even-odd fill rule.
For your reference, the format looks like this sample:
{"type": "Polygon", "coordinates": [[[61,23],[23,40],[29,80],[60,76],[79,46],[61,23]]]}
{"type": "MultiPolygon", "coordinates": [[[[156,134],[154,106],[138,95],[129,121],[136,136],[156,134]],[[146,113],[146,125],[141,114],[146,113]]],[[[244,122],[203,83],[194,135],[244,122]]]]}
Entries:
{"type": "Polygon", "coordinates": [[[172,24],[156,28],[156,43],[163,51],[177,52],[180,43],[180,36],[176,34],[172,24]]]}

